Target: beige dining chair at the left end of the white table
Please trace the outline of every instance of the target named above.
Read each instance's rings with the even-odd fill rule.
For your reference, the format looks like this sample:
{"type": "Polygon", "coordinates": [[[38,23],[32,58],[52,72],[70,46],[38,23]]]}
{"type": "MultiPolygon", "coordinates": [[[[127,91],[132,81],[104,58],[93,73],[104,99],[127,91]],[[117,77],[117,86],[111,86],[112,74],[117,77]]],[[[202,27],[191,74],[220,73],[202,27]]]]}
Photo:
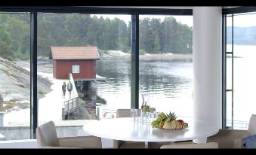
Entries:
{"type": "Polygon", "coordinates": [[[95,136],[78,136],[58,138],[53,121],[36,128],[39,148],[102,148],[101,138],[95,136]]]}

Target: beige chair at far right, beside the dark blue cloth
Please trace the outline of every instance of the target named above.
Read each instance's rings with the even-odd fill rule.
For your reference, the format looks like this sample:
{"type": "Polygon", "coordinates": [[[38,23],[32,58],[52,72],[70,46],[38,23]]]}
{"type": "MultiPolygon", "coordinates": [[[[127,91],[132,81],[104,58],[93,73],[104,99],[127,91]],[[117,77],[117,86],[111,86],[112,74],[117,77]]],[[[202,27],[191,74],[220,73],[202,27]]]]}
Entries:
{"type": "Polygon", "coordinates": [[[242,148],[242,137],[256,134],[256,114],[249,120],[248,130],[220,129],[216,135],[207,138],[207,142],[217,142],[220,148],[242,148]]]}

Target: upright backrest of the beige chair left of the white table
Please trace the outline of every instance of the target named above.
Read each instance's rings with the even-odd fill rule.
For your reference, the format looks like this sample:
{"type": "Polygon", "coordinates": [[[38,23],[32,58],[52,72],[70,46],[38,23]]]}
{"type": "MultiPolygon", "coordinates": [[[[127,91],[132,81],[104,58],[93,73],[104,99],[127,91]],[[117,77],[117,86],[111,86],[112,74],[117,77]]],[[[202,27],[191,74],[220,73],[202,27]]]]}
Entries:
{"type": "Polygon", "coordinates": [[[38,126],[36,128],[36,139],[39,145],[39,148],[44,146],[58,147],[58,138],[56,127],[53,121],[38,126]]]}

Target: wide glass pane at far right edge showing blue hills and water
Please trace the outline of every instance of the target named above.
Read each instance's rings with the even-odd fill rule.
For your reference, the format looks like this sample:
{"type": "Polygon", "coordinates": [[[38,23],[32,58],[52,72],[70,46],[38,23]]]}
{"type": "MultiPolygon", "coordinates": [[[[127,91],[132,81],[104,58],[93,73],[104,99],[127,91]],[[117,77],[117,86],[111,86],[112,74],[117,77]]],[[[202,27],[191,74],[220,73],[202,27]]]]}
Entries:
{"type": "Polygon", "coordinates": [[[255,114],[256,14],[234,16],[234,121],[235,129],[248,129],[255,114]]]}

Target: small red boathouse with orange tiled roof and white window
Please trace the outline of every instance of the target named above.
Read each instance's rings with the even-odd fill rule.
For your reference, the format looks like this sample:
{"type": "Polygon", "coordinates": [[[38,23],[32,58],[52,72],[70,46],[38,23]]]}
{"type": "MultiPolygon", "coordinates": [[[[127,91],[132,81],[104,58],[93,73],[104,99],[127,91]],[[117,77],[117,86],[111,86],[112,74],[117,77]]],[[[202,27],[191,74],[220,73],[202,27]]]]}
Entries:
{"type": "Polygon", "coordinates": [[[75,81],[94,81],[96,79],[96,60],[100,59],[97,47],[51,47],[53,74],[57,79],[75,81]]]}

